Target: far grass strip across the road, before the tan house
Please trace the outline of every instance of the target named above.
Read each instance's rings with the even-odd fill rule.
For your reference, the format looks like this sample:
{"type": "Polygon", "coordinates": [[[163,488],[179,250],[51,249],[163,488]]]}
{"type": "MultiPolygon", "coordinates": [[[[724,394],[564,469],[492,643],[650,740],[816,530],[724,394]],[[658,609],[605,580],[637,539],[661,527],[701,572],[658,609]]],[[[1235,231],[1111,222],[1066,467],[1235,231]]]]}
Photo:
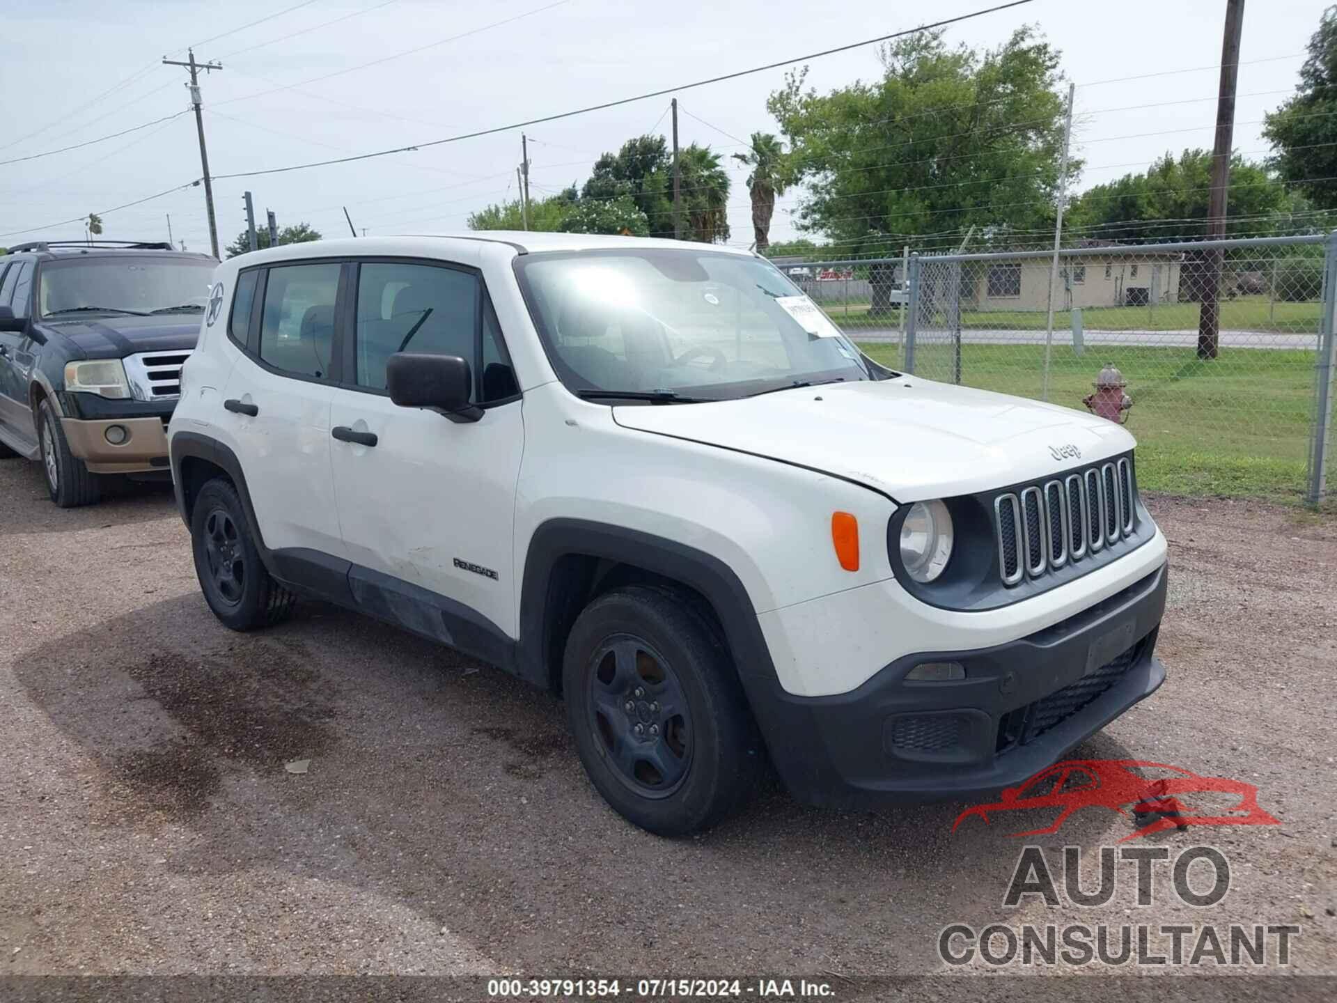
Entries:
{"type": "MultiPolygon", "coordinates": [[[[824,304],[830,318],[850,328],[897,328],[900,312],[869,317],[868,304],[824,304]]],[[[1317,302],[1273,304],[1265,296],[1243,296],[1221,301],[1221,326],[1230,330],[1262,330],[1308,334],[1318,332],[1317,302]]],[[[1044,310],[964,310],[965,328],[1003,328],[1008,330],[1044,330],[1044,310]]],[[[1197,330],[1198,304],[1159,304],[1157,306],[1091,306],[1082,310],[1082,325],[1100,330],[1197,330]]],[[[937,325],[935,325],[937,326],[937,325]]],[[[1054,314],[1056,330],[1072,328],[1067,310],[1054,314]]]]}

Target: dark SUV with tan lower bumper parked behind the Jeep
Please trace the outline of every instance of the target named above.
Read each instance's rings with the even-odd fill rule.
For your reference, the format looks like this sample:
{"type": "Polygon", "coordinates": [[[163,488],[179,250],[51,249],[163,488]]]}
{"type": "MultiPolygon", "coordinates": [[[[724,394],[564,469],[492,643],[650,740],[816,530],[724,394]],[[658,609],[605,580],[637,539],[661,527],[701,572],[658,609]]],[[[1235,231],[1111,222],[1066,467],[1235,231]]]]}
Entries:
{"type": "Polygon", "coordinates": [[[0,457],[40,457],[62,508],[96,502],[100,475],[167,475],[167,421],[217,263],[123,241],[0,257],[0,457]]]}

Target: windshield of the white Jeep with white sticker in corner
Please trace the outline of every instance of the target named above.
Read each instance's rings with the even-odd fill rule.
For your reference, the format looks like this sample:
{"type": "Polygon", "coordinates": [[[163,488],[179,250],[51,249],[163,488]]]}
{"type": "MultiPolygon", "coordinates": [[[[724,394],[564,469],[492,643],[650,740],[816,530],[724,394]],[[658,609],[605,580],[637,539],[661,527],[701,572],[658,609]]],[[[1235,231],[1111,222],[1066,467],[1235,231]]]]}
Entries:
{"type": "Polygon", "coordinates": [[[548,358],[584,396],[726,400],[884,376],[761,258],[554,253],[523,255],[516,271],[548,358]]]}

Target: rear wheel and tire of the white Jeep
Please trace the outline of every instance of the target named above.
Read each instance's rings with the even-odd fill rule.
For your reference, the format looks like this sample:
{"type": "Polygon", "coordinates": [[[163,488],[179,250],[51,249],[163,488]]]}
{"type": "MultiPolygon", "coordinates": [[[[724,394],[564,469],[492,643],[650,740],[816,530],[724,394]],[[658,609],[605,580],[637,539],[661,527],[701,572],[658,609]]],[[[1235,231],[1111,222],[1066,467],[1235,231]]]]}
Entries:
{"type": "Polygon", "coordinates": [[[190,547],[205,602],[233,630],[269,627],[287,618],[295,598],[259,559],[241,496],[215,477],[199,489],[190,515],[190,547]]]}

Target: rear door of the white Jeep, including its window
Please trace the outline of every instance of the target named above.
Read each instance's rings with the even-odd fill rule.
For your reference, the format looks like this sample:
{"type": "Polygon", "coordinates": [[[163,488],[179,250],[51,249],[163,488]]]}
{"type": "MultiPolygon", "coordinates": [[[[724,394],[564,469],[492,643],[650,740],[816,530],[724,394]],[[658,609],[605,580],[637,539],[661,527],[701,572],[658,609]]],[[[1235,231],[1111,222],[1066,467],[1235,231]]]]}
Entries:
{"type": "Polygon", "coordinates": [[[344,546],[329,435],[341,273],[342,263],[328,259],[261,270],[245,354],[223,391],[218,424],[237,443],[271,551],[338,555],[344,546]]]}

